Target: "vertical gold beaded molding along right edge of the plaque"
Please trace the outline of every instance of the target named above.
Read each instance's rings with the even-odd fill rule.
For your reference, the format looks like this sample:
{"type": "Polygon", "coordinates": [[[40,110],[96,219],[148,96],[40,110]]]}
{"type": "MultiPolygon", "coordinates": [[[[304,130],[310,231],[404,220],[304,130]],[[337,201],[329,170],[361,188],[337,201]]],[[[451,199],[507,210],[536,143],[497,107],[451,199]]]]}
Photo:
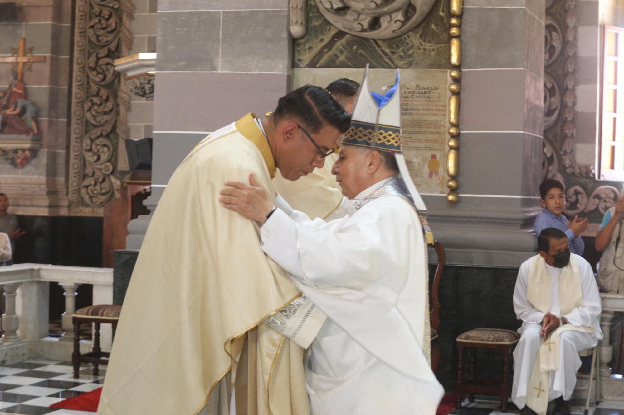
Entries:
{"type": "Polygon", "coordinates": [[[449,85],[449,138],[448,146],[449,150],[446,154],[446,172],[449,175],[449,179],[446,182],[446,187],[449,188],[449,193],[446,195],[448,203],[455,204],[459,201],[459,193],[457,188],[459,182],[457,181],[457,174],[459,174],[459,92],[461,85],[459,80],[461,79],[461,70],[459,67],[462,63],[462,42],[461,42],[461,15],[464,11],[463,0],[451,0],[449,4],[451,19],[449,19],[449,35],[451,36],[451,55],[449,56],[449,63],[452,69],[449,72],[451,77],[451,84],[449,85]]]}

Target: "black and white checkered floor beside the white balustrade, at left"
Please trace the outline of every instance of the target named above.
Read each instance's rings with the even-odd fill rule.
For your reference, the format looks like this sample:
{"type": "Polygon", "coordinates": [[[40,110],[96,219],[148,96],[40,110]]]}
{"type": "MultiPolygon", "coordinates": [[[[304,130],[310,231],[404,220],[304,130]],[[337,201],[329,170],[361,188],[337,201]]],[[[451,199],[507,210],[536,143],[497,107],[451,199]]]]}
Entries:
{"type": "Polygon", "coordinates": [[[94,415],[92,412],[50,409],[51,404],[100,388],[106,366],[93,376],[93,366],[82,365],[74,379],[71,363],[54,360],[27,360],[0,366],[0,415],[55,414],[94,415]]]}

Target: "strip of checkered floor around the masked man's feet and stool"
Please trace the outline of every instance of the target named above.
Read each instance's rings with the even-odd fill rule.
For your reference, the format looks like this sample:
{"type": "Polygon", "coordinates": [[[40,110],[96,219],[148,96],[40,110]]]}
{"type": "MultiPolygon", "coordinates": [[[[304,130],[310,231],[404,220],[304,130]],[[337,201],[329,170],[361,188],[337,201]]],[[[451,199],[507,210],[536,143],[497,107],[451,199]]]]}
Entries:
{"type": "MultiPolygon", "coordinates": [[[[550,414],[553,410],[553,403],[548,407],[550,414]]],[[[500,399],[490,396],[475,396],[474,402],[470,403],[464,399],[461,409],[453,409],[449,415],[510,415],[519,414],[520,411],[509,401],[507,412],[500,411],[500,399]]],[[[572,415],[582,415],[585,413],[585,406],[572,405],[572,415]]],[[[624,402],[604,401],[598,408],[590,406],[588,415],[624,415],[624,402]]]]}

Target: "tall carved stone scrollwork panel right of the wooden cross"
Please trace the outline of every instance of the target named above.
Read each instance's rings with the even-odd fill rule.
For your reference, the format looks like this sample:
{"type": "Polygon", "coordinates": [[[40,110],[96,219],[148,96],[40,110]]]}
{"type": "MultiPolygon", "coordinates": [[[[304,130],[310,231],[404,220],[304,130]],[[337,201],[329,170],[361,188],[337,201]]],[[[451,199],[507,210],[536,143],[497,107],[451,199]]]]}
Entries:
{"type": "Polygon", "coordinates": [[[117,146],[128,136],[130,97],[113,61],[132,47],[129,0],[77,0],[74,19],[69,213],[101,216],[121,185],[117,146]]]}

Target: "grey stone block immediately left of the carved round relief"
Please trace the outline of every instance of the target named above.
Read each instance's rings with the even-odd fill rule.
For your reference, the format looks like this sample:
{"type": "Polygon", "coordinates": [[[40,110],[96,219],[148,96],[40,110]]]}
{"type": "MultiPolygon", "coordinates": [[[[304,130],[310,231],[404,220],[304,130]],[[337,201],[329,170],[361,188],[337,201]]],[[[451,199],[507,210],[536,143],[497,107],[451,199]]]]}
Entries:
{"type": "Polygon", "coordinates": [[[222,22],[220,70],[289,72],[288,10],[224,11],[222,22]]]}

